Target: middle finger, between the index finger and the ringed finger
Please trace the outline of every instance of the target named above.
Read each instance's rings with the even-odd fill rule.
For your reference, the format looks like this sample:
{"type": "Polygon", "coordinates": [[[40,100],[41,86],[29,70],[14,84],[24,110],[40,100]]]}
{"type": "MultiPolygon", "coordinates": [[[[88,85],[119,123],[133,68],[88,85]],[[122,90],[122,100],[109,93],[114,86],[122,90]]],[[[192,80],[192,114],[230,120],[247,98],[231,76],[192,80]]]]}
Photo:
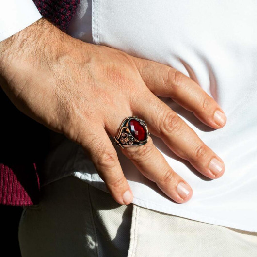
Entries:
{"type": "Polygon", "coordinates": [[[157,96],[147,90],[142,95],[144,97],[138,96],[131,106],[134,107],[134,115],[147,123],[149,131],[160,137],[177,156],[189,161],[206,177],[221,177],[225,171],[221,158],[157,96]]]}

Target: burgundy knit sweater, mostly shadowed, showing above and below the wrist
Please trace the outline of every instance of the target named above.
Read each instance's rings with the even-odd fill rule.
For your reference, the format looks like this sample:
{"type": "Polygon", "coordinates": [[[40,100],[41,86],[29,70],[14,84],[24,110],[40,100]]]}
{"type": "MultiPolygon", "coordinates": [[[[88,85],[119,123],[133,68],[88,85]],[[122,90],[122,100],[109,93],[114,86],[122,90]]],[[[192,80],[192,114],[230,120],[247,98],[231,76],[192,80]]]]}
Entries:
{"type": "MultiPolygon", "coordinates": [[[[39,12],[66,31],[80,0],[33,0],[39,12]]],[[[0,89],[0,204],[39,202],[40,164],[48,152],[49,131],[19,112],[0,89]]]]}

